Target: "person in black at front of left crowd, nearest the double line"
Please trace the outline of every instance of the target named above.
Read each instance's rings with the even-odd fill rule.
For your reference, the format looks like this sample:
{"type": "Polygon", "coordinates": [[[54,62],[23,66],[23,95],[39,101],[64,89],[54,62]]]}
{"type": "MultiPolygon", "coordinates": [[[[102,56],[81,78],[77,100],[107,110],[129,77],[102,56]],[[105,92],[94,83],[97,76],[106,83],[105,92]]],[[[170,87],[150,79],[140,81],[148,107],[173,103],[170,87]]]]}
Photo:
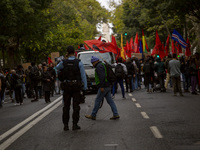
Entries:
{"type": "Polygon", "coordinates": [[[50,100],[51,82],[52,78],[50,72],[47,69],[47,66],[43,66],[42,83],[43,83],[44,98],[46,103],[51,102],[50,100]]]}

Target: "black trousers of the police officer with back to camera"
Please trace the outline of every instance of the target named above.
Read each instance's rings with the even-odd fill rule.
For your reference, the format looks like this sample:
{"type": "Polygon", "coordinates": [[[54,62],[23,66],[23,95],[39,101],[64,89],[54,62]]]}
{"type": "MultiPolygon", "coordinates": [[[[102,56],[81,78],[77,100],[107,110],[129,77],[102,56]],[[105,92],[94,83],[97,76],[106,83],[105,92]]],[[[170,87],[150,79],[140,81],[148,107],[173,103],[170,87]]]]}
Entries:
{"type": "Polygon", "coordinates": [[[78,89],[73,89],[70,87],[65,87],[64,88],[64,93],[63,93],[63,99],[64,99],[64,107],[63,107],[63,124],[68,125],[69,119],[70,119],[70,105],[71,105],[71,100],[73,102],[73,124],[77,125],[79,118],[80,118],[80,90],[78,89]]]}

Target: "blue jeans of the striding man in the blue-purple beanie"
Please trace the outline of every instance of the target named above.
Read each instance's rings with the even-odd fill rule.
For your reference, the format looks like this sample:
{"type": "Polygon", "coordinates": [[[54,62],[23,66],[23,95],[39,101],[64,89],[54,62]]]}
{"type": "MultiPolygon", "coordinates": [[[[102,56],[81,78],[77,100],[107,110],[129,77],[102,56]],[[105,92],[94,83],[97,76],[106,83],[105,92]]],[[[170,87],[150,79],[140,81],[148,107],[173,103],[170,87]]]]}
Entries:
{"type": "Polygon", "coordinates": [[[118,116],[119,114],[117,111],[117,107],[111,97],[111,88],[110,87],[105,87],[104,92],[101,92],[100,88],[98,89],[97,97],[95,99],[95,105],[94,105],[91,116],[96,117],[96,114],[99,110],[99,106],[100,106],[101,102],[103,101],[104,97],[106,98],[107,103],[110,105],[110,107],[112,109],[113,116],[118,116]]]}

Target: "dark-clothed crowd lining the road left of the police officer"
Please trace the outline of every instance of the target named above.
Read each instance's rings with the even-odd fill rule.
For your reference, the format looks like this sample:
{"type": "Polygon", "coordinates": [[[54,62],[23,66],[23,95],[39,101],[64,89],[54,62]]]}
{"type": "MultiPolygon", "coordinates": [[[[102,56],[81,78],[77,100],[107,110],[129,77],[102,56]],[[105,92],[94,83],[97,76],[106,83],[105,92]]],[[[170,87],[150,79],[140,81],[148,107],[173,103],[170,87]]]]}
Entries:
{"type": "Polygon", "coordinates": [[[0,107],[9,95],[15,105],[23,105],[23,99],[29,98],[36,102],[44,98],[46,103],[50,102],[50,96],[60,94],[60,82],[53,63],[42,64],[31,63],[28,69],[22,65],[8,71],[0,70],[0,107]]]}

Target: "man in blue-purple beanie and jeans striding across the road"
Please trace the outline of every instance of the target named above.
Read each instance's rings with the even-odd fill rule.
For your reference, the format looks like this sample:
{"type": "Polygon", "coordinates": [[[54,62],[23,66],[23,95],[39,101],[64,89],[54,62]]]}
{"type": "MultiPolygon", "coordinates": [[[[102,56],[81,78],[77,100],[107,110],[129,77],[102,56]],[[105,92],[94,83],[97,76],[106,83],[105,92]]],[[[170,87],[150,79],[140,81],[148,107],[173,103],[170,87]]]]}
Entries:
{"type": "Polygon", "coordinates": [[[111,87],[110,83],[107,79],[107,69],[106,66],[99,61],[99,58],[92,56],[91,58],[92,65],[96,68],[95,69],[95,82],[98,88],[97,96],[95,99],[95,104],[93,111],[91,115],[85,115],[87,119],[96,120],[96,114],[100,108],[101,102],[103,101],[104,97],[107,100],[107,103],[110,105],[111,110],[113,112],[113,117],[110,118],[110,120],[116,120],[119,119],[119,114],[117,111],[117,107],[115,105],[115,102],[113,101],[111,97],[111,87]]]}

